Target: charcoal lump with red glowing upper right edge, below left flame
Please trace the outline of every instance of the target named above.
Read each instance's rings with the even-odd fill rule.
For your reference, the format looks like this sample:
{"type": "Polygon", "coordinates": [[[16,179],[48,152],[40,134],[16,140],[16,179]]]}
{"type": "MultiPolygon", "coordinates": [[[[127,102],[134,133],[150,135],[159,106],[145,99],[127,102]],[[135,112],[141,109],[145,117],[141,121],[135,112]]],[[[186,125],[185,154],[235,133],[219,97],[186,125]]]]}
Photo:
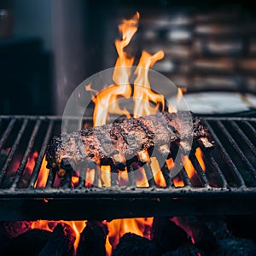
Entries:
{"type": "Polygon", "coordinates": [[[67,224],[57,224],[38,256],[72,256],[75,234],[67,224]]]}

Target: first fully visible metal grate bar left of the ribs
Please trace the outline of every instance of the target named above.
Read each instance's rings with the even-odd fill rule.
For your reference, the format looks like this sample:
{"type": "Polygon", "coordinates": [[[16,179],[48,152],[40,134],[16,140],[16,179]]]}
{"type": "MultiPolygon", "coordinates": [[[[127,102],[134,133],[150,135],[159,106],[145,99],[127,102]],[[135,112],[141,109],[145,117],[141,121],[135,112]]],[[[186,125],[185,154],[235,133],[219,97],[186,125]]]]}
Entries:
{"type": "Polygon", "coordinates": [[[38,154],[38,160],[37,160],[36,166],[35,166],[35,168],[32,172],[32,177],[31,177],[30,183],[28,185],[28,187],[31,188],[31,189],[34,187],[34,185],[37,181],[38,174],[39,174],[39,171],[40,171],[40,168],[41,168],[41,165],[42,165],[42,161],[43,161],[43,158],[44,158],[45,150],[46,150],[47,145],[49,143],[49,137],[51,135],[53,125],[54,125],[54,121],[50,120],[47,131],[46,131],[46,135],[44,137],[44,142],[43,142],[42,148],[40,150],[40,153],[38,154]]]}

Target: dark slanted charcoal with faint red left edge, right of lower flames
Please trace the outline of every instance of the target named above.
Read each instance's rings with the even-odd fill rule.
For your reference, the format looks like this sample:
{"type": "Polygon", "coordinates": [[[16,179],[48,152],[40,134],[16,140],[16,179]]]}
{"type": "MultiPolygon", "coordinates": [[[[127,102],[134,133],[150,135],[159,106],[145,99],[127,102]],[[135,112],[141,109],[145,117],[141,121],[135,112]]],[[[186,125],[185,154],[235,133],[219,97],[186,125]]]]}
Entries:
{"type": "Polygon", "coordinates": [[[174,217],[172,221],[181,227],[195,244],[206,255],[218,249],[217,241],[207,226],[196,217],[174,217]]]}

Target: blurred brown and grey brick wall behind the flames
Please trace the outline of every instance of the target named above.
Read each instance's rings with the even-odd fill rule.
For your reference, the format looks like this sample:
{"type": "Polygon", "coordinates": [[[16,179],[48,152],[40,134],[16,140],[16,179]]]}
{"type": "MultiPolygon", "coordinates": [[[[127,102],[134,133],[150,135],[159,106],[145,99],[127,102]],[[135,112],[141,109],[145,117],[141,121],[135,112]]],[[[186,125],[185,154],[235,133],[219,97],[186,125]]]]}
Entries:
{"type": "Polygon", "coordinates": [[[163,49],[153,67],[188,90],[256,92],[256,16],[238,7],[142,13],[129,50],[163,49]]]}

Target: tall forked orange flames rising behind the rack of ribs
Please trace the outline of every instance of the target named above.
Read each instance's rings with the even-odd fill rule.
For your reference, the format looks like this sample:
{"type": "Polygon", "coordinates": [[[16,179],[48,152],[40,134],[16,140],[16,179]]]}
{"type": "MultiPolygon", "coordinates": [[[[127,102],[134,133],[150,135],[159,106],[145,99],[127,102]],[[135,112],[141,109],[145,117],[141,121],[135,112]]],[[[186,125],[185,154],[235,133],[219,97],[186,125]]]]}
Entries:
{"type": "MultiPolygon", "coordinates": [[[[138,20],[139,13],[137,12],[131,20],[123,20],[123,23],[119,25],[119,32],[122,38],[115,40],[115,47],[118,53],[118,59],[113,70],[113,82],[115,84],[109,85],[108,88],[98,93],[91,88],[91,84],[85,86],[85,90],[90,90],[95,94],[92,98],[92,101],[95,103],[93,113],[95,126],[106,124],[109,113],[125,115],[128,118],[131,117],[131,114],[126,108],[120,108],[118,99],[119,97],[131,98],[132,88],[130,77],[134,58],[125,52],[125,47],[131,42],[131,38],[137,32],[138,20]]],[[[164,96],[150,89],[148,79],[149,68],[153,67],[154,63],[163,57],[164,52],[162,50],[154,55],[150,55],[146,51],[142,53],[135,70],[137,78],[133,84],[132,100],[134,102],[134,117],[153,114],[159,111],[160,108],[162,110],[165,108],[164,96]]]]}

